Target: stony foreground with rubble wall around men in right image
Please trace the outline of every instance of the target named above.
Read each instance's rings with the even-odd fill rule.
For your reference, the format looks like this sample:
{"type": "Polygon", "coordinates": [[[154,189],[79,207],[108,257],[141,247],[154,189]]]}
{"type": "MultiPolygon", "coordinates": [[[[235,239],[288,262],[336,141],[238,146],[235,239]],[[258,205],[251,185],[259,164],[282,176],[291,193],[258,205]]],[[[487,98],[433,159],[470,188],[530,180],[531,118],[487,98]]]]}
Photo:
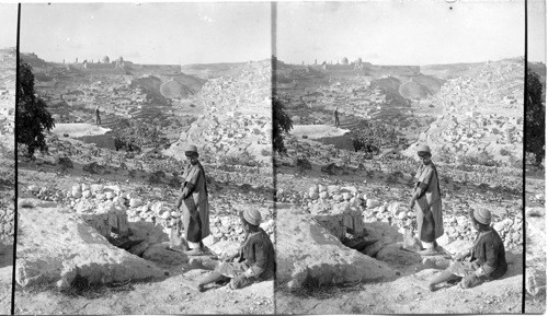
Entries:
{"type": "MultiPolygon", "coordinates": [[[[313,148],[322,150],[318,144],[313,148]]],[[[323,159],[327,159],[327,152],[329,151],[326,151],[323,159]]],[[[493,213],[495,229],[504,239],[511,271],[503,279],[476,289],[463,291],[456,286],[444,286],[431,293],[424,290],[425,280],[447,267],[450,256],[427,258],[406,250],[406,248],[413,249],[413,242],[406,238],[408,230],[413,225],[413,213],[406,207],[410,197],[408,186],[410,174],[401,172],[397,162],[379,161],[376,162],[379,164],[378,167],[366,162],[364,169],[359,169],[352,164],[354,161],[352,154],[350,161],[351,164],[346,165],[339,161],[330,169],[326,167],[329,164],[322,163],[319,157],[309,161],[311,168],[302,166],[302,163],[299,165],[296,159],[295,162],[290,157],[281,159],[281,164],[276,168],[277,199],[301,208],[302,216],[311,216],[307,222],[318,223],[316,230],[326,230],[322,234],[330,235],[333,238],[331,244],[338,246],[333,245],[334,249],[326,248],[326,242],[320,242],[323,237],[313,233],[311,224],[308,226],[312,236],[309,241],[305,239],[304,244],[307,246],[300,246],[299,255],[286,250],[279,251],[278,243],[278,254],[282,255],[278,255],[277,313],[521,312],[523,276],[521,195],[517,191],[509,194],[515,188],[503,185],[517,182],[517,175],[510,173],[503,176],[501,173],[498,183],[482,186],[473,178],[466,182],[458,180],[464,178],[465,171],[447,165],[438,167],[444,192],[446,232],[439,238],[439,244],[447,255],[456,255],[470,247],[473,234],[467,222],[466,212],[470,208],[488,208],[493,213]],[[444,182],[444,179],[450,180],[444,182]],[[363,229],[365,241],[370,241],[369,245],[361,251],[349,248],[353,238],[352,234],[347,234],[349,229],[354,232],[363,229]],[[285,255],[287,255],[286,266],[279,258],[285,255]],[[319,259],[315,264],[307,264],[308,261],[298,259],[299,256],[310,256],[310,260],[315,257],[319,259]],[[330,259],[331,256],[338,259],[333,261],[330,259]],[[300,262],[304,266],[290,262],[300,262]],[[374,272],[379,265],[385,267],[385,270],[374,272]],[[359,266],[367,268],[352,269],[359,266]],[[361,274],[365,271],[372,274],[361,274]],[[321,279],[321,276],[330,273],[339,276],[339,279],[321,279]],[[296,282],[297,279],[300,281],[296,282]],[[455,295],[458,302],[448,300],[455,295]],[[436,306],[437,309],[432,311],[432,306],[436,306]]],[[[287,234],[287,238],[295,238],[298,244],[304,238],[300,237],[304,233],[298,234],[294,231],[284,233],[290,225],[283,220],[278,213],[277,235],[287,234]]],[[[293,221],[294,219],[288,222],[293,221]]],[[[300,231],[307,232],[307,229],[300,231]]]]}

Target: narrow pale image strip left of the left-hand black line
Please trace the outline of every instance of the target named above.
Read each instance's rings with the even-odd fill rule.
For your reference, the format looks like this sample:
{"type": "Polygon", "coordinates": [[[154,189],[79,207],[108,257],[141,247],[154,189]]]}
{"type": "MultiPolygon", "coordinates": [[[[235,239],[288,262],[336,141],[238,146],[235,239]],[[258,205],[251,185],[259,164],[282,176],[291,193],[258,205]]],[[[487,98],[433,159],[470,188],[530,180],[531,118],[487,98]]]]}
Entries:
{"type": "Polygon", "coordinates": [[[0,315],[11,314],[15,214],[18,5],[0,4],[0,315]]]}

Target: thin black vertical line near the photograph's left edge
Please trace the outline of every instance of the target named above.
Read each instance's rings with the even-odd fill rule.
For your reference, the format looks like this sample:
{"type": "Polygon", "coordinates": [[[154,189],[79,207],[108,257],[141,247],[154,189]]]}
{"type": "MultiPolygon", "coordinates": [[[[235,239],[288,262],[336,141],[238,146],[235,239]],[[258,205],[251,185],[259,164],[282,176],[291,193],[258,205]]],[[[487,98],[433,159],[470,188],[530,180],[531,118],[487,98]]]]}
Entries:
{"type": "Polygon", "coordinates": [[[14,117],[14,122],[15,122],[15,128],[13,131],[13,143],[14,143],[14,151],[13,151],[13,167],[15,168],[14,172],[14,208],[13,208],[13,269],[11,273],[11,315],[15,315],[15,260],[18,257],[18,222],[19,222],[19,216],[18,216],[18,101],[19,101],[19,46],[20,46],[20,33],[21,33],[21,3],[18,3],[18,35],[16,35],[16,40],[15,40],[15,117],[14,117]]]}

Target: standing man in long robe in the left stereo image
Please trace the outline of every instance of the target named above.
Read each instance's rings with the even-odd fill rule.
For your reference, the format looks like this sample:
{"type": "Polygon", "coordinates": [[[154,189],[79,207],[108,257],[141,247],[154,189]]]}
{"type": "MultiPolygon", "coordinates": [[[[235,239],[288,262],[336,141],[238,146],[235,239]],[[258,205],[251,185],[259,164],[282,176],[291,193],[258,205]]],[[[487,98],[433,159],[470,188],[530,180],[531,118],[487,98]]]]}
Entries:
{"type": "Polygon", "coordinates": [[[189,165],[183,173],[184,182],[181,186],[181,196],[176,208],[182,208],[183,237],[189,244],[186,254],[196,256],[204,253],[202,239],[210,234],[209,203],[205,172],[198,161],[197,148],[189,144],[184,149],[184,154],[189,165]]]}

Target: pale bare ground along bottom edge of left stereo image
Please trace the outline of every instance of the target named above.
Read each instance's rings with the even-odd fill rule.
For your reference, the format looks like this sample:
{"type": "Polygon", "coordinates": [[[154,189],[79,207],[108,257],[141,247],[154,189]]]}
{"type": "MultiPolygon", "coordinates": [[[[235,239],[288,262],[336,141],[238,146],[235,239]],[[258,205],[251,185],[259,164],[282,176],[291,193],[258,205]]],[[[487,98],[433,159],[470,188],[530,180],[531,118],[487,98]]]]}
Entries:
{"type": "MultiPolygon", "coordinates": [[[[193,270],[159,282],[142,282],[121,288],[103,288],[83,296],[71,296],[49,289],[21,291],[15,296],[15,314],[272,314],[273,281],[232,291],[215,285],[198,293],[182,285],[207,273],[193,270]]],[[[210,285],[209,285],[210,286],[210,285]]]]}

